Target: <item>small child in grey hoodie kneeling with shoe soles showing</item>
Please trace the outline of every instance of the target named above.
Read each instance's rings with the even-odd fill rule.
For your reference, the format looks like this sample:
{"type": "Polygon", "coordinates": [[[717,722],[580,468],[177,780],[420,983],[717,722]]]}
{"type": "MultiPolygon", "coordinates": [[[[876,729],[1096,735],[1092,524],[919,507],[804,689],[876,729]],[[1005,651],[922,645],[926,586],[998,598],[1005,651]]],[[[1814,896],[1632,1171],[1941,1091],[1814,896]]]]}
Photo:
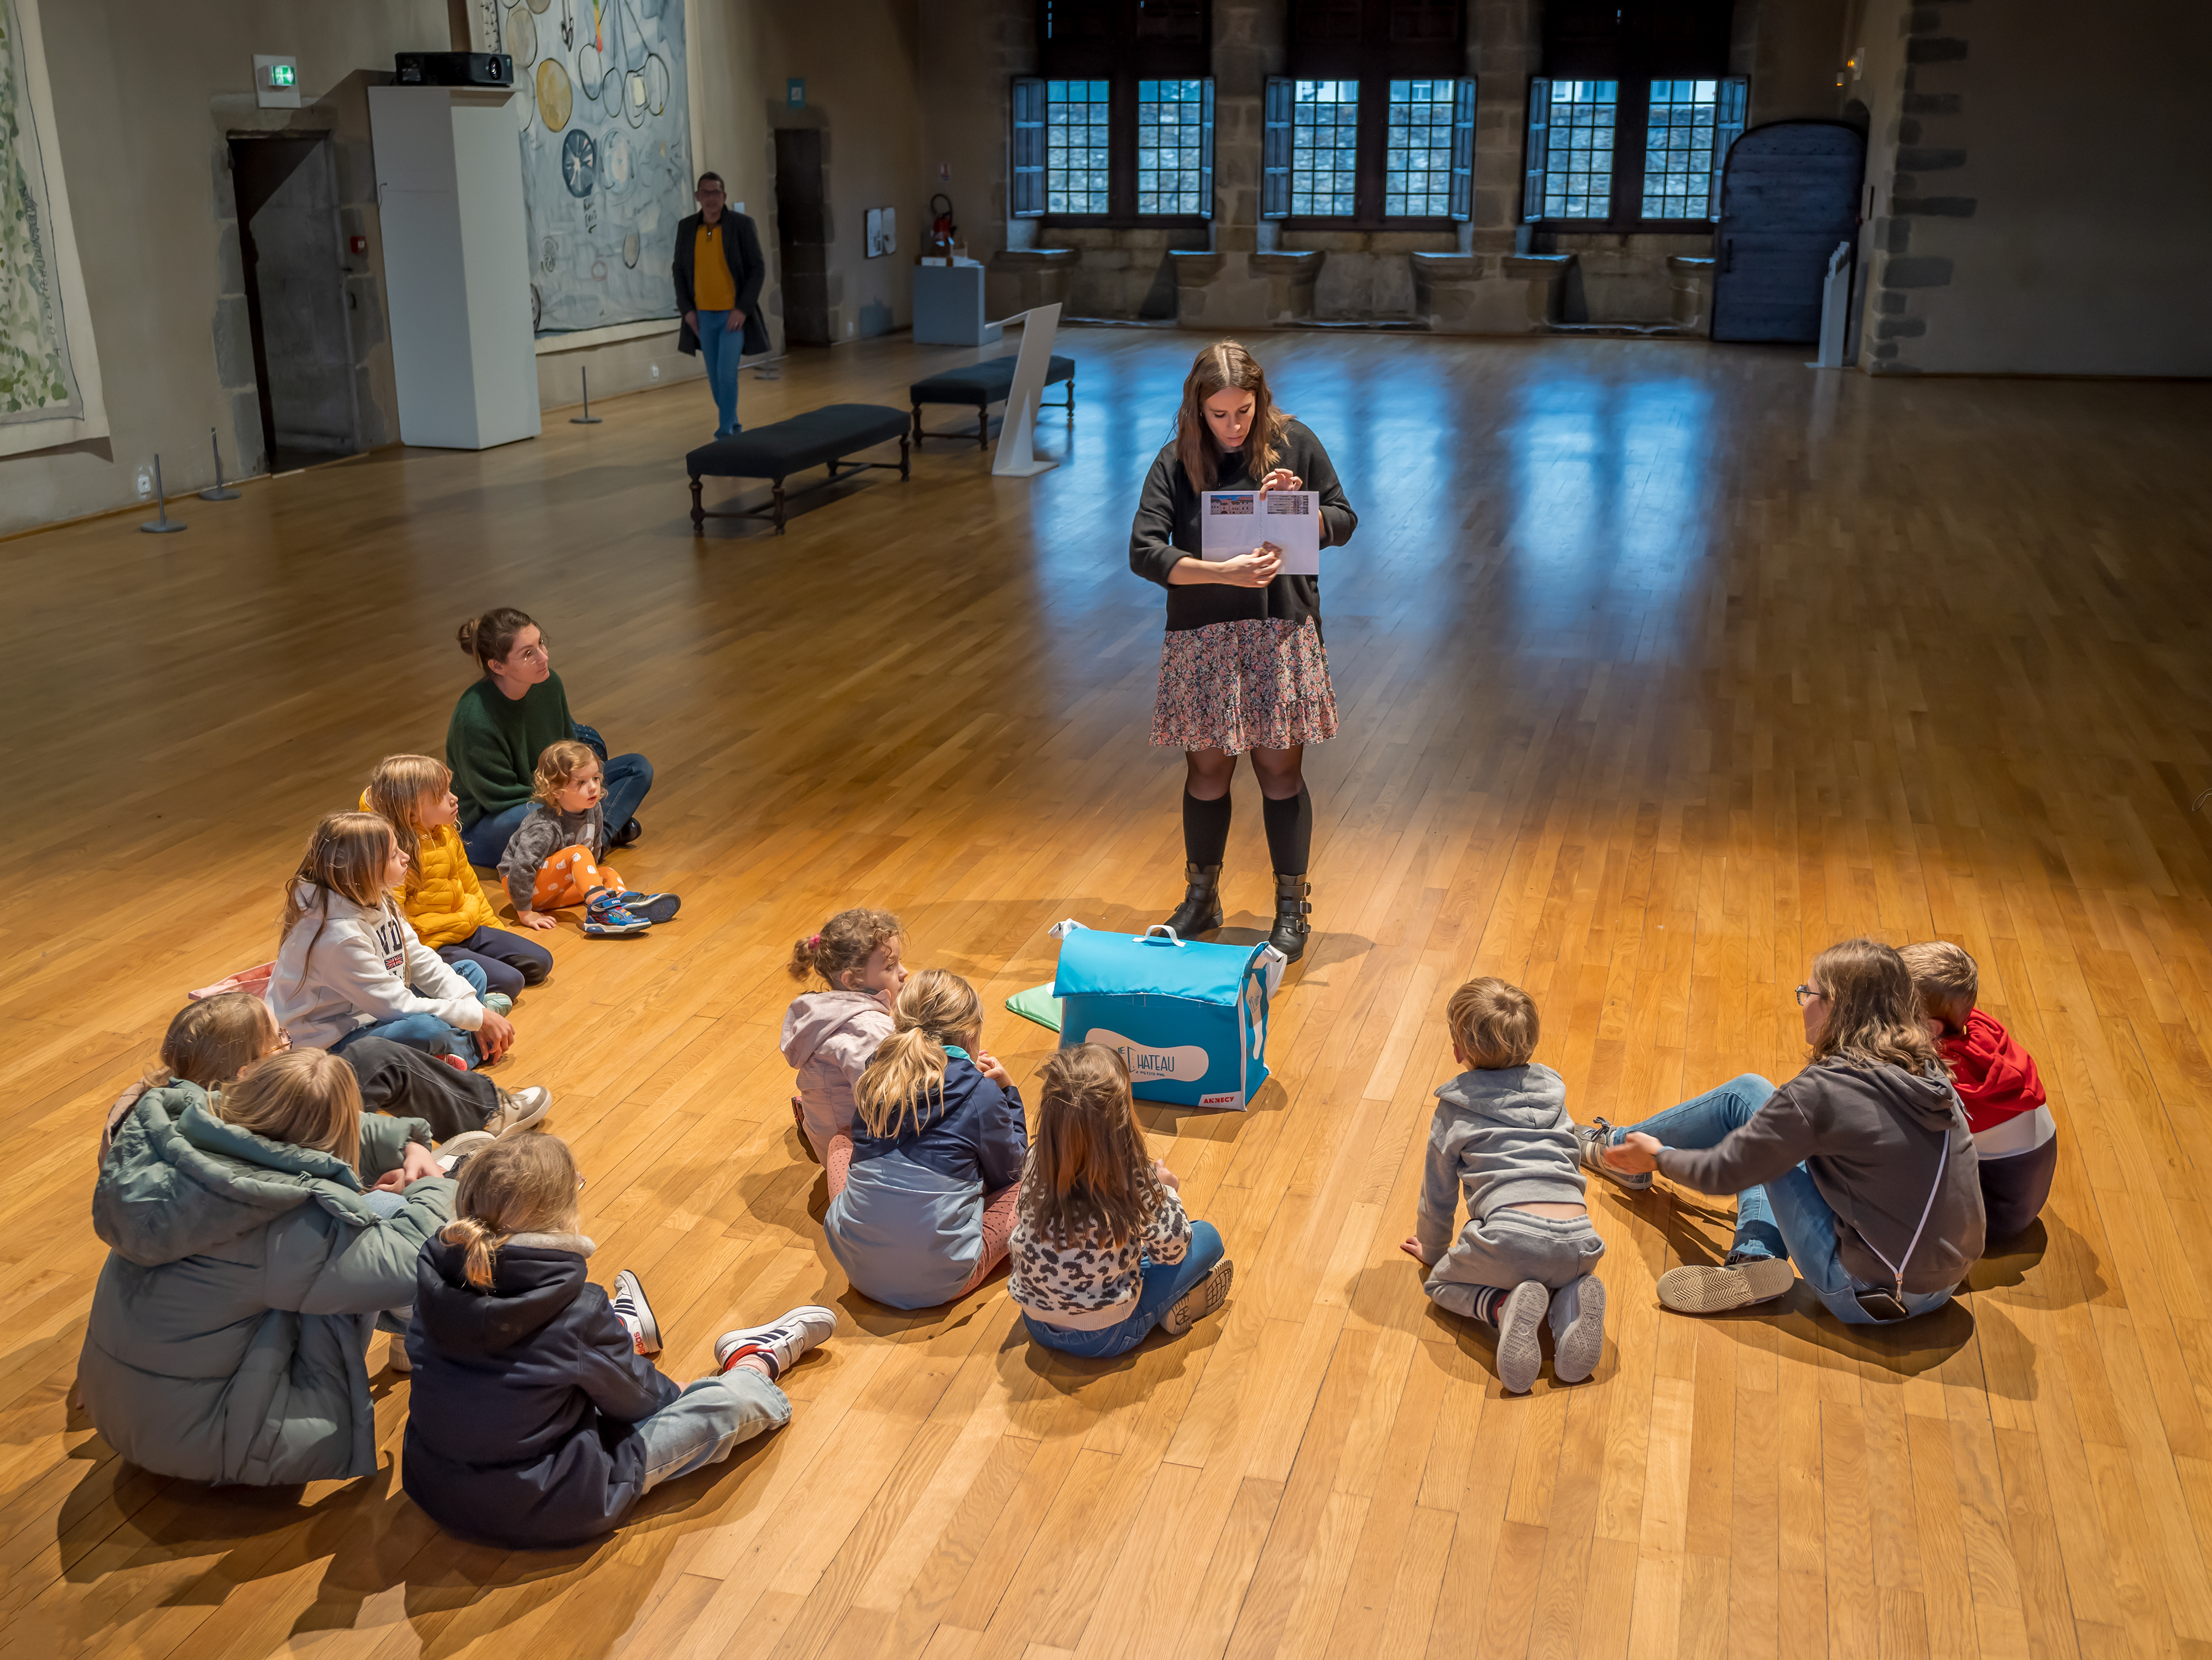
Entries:
{"type": "Polygon", "coordinates": [[[1444,1010],[1451,1052],[1469,1068],[1436,1092],[1420,1211],[1405,1253],[1429,1264],[1442,1309],[1498,1328],[1498,1379],[1515,1395],[1544,1366],[1537,1326],[1551,1315],[1553,1375],[1579,1384],[1606,1348],[1606,1286],[1593,1273],[1606,1242],[1584,1205],[1566,1083],[1531,1063],[1535,1001],[1502,979],[1471,979],[1444,1010]],[[1451,1222],[1467,1194],[1467,1227],[1451,1222]]]}

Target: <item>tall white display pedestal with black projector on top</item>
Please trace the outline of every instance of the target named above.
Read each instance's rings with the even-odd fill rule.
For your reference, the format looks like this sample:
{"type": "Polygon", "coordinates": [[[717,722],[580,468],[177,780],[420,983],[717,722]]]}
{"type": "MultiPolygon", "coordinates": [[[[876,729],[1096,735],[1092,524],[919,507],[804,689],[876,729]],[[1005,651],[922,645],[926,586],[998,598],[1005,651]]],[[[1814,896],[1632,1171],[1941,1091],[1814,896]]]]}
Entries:
{"type": "Polygon", "coordinates": [[[407,444],[491,449],[540,431],[513,97],[529,93],[369,88],[407,444]]]}

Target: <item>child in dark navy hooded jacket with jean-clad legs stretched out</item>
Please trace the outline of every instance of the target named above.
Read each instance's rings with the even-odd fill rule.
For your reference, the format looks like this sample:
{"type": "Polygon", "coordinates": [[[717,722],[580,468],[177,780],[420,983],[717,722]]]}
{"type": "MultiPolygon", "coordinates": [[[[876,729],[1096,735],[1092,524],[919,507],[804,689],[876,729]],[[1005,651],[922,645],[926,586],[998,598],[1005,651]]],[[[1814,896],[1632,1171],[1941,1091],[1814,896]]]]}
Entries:
{"type": "Polygon", "coordinates": [[[803,1306],[723,1333],[688,1386],[648,1355],[661,1333],[635,1273],[608,1297],[577,1233],[582,1178],[557,1136],[511,1136],[460,1165],[456,1216],[416,1258],[414,1397],[400,1483],[449,1534],[509,1549],[582,1545],[664,1481],[790,1423],[776,1379],[836,1331],[803,1306]]]}

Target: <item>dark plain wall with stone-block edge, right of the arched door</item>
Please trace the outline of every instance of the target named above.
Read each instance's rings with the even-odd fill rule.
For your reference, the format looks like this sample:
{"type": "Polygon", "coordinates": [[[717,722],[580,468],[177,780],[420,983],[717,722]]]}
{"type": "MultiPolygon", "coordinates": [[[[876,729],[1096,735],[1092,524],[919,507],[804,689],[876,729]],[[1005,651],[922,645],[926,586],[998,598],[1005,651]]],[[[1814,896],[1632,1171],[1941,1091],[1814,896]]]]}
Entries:
{"type": "Polygon", "coordinates": [[[2194,0],[1869,7],[1876,374],[2212,374],[2194,0]]]}

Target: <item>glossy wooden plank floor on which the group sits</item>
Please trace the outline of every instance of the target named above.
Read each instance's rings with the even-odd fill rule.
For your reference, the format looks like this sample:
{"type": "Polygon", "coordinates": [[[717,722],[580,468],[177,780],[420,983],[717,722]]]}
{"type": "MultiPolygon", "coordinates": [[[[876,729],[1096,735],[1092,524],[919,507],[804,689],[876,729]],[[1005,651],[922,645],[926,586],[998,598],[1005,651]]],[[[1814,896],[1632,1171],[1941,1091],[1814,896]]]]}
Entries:
{"type": "MultiPolygon", "coordinates": [[[[22,864],[0,933],[0,1620],[11,1653],[2212,1653],[2212,389],[1865,380],[1801,349],[1274,334],[1360,511],[1327,555],[1343,734],[1310,758],[1321,933],[1250,1114],[1146,1110],[1237,1262],[1225,1317],[1115,1364],[1024,1342],[1004,1282],[845,1289],[787,1112],[790,942],[896,908],[1000,1010],[1060,917],[1179,891],[1146,743],[1161,597],[1137,482],[1194,336],[1075,329],[1066,464],[973,442],[692,542],[695,382],[484,455],[385,451],[0,546],[22,864]],[[438,752],[453,626],[522,603],[580,718],[659,769],[646,939],[553,937],[509,1083],[591,1174],[679,1377],[803,1300],[838,1337],[792,1426],[597,1549],[502,1556],[378,1477],[204,1490],[66,1397],[104,1103],[188,986],[261,962],[310,822],[438,752]],[[1728,1205],[1595,1191],[1597,1377],[1502,1397],[1398,1253],[1440,1010],[1524,984],[1577,1116],[1803,1048],[1847,935],[1942,933],[2033,1048],[2044,1227],[1898,1335],[1661,1317],[1728,1205]]],[[[745,380],[750,422],[905,405],[902,338],[745,380]]],[[[960,411],[938,411],[960,431],[960,411]]],[[[1239,780],[1232,924],[1267,902],[1239,780]]],[[[635,864],[635,869],[633,869],[635,864]]],[[[1252,935],[1245,935],[1252,937],[1252,935]]]]}

